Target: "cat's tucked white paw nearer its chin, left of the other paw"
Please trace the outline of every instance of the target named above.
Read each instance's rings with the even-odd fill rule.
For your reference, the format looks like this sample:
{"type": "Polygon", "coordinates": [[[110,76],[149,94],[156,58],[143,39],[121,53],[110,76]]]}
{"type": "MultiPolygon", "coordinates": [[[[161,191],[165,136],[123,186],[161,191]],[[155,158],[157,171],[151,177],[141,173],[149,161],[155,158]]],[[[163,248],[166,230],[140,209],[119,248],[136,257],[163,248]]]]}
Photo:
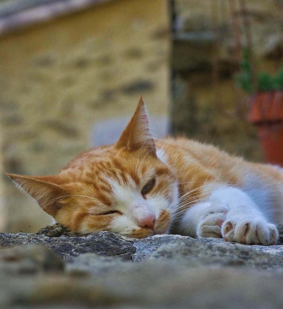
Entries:
{"type": "Polygon", "coordinates": [[[210,211],[197,226],[198,237],[222,238],[221,226],[225,220],[227,211],[210,211]]]}

